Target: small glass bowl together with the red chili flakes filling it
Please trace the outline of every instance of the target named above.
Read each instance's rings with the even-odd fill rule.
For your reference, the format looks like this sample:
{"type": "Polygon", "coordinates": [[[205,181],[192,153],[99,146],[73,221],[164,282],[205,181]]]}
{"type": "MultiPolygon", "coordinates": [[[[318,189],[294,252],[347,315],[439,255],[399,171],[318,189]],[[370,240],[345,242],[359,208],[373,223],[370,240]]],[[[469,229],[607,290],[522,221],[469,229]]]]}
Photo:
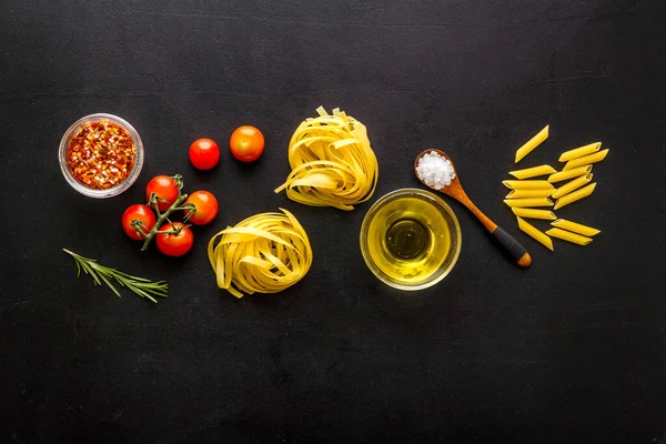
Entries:
{"type": "Polygon", "coordinates": [[[112,198],[129,189],[143,167],[143,143],[134,128],[112,114],[77,120],[60,141],[67,182],[90,198],[112,198]]]}

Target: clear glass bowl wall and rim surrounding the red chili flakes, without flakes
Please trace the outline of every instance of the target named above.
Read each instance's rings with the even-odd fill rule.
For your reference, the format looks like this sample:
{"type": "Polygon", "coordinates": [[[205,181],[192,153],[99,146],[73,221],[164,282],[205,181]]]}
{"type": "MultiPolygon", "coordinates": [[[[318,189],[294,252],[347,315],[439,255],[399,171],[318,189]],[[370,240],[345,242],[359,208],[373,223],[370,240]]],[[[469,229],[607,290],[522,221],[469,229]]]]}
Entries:
{"type": "Polygon", "coordinates": [[[123,191],[125,191],[127,189],[129,189],[139,178],[139,174],[141,173],[141,169],[143,168],[143,143],[141,142],[141,138],[139,137],[139,133],[137,132],[137,130],[134,130],[134,127],[132,127],[129,122],[119,118],[118,115],[104,114],[104,113],[90,114],[90,115],[85,115],[84,118],[77,120],[74,123],[71,124],[70,128],[68,128],[68,130],[64,132],[64,135],[62,135],[62,139],[60,140],[60,149],[59,149],[58,157],[60,160],[60,170],[62,171],[62,175],[64,175],[67,183],[69,183],[74,190],[77,190],[81,194],[84,194],[89,198],[97,198],[97,199],[113,198],[114,195],[118,195],[118,194],[122,193],[123,191]],[[130,171],[128,176],[121,183],[119,183],[114,186],[108,188],[108,189],[98,190],[98,189],[85,185],[84,183],[80,182],[77,178],[74,178],[74,175],[72,174],[72,172],[70,171],[70,168],[68,165],[67,158],[68,158],[69,144],[70,144],[70,141],[72,140],[72,137],[82,127],[84,127],[89,123],[102,122],[102,121],[115,123],[117,125],[121,127],[130,134],[130,137],[132,138],[132,141],[134,143],[135,159],[134,159],[134,165],[132,167],[132,170],[130,171]]]}

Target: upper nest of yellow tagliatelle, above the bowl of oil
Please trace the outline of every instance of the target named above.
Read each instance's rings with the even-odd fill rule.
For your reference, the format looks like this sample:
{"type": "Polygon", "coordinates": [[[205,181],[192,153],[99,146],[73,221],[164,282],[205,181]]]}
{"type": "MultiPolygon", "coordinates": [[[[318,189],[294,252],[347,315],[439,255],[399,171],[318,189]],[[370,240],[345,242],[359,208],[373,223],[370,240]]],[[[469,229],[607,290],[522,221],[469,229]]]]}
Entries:
{"type": "Polygon", "coordinates": [[[353,210],[377,184],[377,159],[363,123],[340,109],[330,115],[322,107],[317,118],[302,122],[289,143],[291,174],[275,190],[314,206],[353,210]]]}

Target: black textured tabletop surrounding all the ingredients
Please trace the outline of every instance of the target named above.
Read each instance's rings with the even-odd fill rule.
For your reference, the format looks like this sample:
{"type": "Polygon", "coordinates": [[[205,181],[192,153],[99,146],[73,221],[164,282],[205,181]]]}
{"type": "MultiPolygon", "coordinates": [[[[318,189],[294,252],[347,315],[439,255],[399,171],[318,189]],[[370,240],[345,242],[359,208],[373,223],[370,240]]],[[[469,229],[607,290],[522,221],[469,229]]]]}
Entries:
{"type": "Polygon", "coordinates": [[[665,20],[658,0],[3,1],[0,442],[666,442],[665,20]],[[353,212],[273,193],[320,104],[361,120],[379,158],[353,212]],[[58,165],[63,132],[94,112],[145,147],[110,200],[58,165]],[[586,248],[546,251],[502,203],[515,149],[546,123],[521,167],[610,148],[596,192],[557,213],[603,230],[586,248]],[[256,164],[224,150],[193,170],[194,139],[226,148],[241,124],[265,134],[256,164]],[[448,200],[463,250],[446,280],[403,293],[370,273],[361,221],[417,185],[432,147],[529,270],[448,200]],[[188,256],[141,253],[120,216],[176,172],[221,213],[188,256]],[[310,235],[307,276],[278,295],[218,290],[210,236],[279,206],[310,235]],[[168,279],[170,296],[93,289],[62,248],[168,279]]]}

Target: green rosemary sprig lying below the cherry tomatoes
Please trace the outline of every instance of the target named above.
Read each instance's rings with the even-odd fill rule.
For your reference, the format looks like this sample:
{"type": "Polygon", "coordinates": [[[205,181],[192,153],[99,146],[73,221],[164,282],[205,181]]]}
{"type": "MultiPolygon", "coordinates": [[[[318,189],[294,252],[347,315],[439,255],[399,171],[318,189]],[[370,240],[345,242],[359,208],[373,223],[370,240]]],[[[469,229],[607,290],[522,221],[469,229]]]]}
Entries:
{"type": "Polygon", "coordinates": [[[158,300],[153,296],[167,297],[169,291],[167,281],[152,282],[144,278],[132,276],[122,271],[100,265],[94,259],[83,258],[65,249],[62,249],[62,251],[74,258],[78,270],[77,278],[81,275],[81,270],[83,270],[85,274],[90,274],[95,285],[107,284],[118,297],[121,297],[121,295],[118,289],[111,283],[112,280],[118,282],[120,286],[127,286],[128,290],[154,303],[158,303],[158,300]]]}

